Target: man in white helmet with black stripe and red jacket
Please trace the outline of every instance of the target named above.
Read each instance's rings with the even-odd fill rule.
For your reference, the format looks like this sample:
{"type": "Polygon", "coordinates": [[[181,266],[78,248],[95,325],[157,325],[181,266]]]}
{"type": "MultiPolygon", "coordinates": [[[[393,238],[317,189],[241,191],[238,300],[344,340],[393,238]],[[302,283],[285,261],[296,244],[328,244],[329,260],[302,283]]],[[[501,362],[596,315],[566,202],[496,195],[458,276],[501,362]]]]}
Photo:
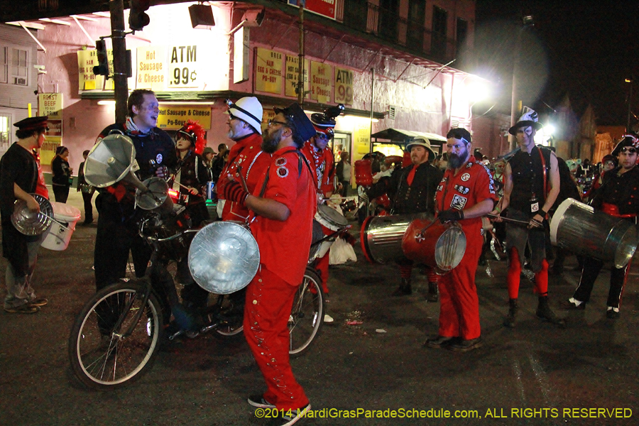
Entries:
{"type": "MultiPolygon", "coordinates": [[[[258,179],[268,164],[271,162],[271,154],[264,153],[262,143],[262,105],[256,97],[243,97],[237,102],[226,101],[229,106],[228,136],[235,141],[229,152],[229,160],[226,161],[218,180],[217,194],[224,192],[224,183],[227,176],[238,178],[240,175],[246,180],[249,192],[253,192],[258,179]]],[[[249,217],[249,209],[236,202],[219,200],[218,213],[222,220],[244,220],[249,217]],[[222,207],[220,207],[220,205],[222,207]]]]}

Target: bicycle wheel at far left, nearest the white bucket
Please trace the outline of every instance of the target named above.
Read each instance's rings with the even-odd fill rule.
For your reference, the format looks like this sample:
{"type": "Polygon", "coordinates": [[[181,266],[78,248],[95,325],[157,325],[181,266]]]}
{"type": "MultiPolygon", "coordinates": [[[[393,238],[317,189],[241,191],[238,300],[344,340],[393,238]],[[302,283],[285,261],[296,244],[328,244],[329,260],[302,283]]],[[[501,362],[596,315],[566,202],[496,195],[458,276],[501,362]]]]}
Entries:
{"type": "Polygon", "coordinates": [[[109,285],[82,308],[68,350],[73,372],[85,386],[115,389],[136,380],[153,364],[163,330],[162,312],[153,293],[142,305],[145,287],[109,285]],[[141,315],[136,315],[140,310],[141,315]]]}

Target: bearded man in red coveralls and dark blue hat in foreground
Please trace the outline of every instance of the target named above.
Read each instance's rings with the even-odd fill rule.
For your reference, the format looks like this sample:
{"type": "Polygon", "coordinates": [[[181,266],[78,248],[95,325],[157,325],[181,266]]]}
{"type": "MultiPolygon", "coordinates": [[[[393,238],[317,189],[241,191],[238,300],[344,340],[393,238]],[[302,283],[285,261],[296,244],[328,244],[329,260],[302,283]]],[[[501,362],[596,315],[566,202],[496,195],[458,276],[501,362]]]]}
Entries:
{"type": "Polygon", "coordinates": [[[249,404],[276,408],[278,425],[293,425],[310,410],[293,376],[288,354],[288,318],[302,282],[317,207],[313,173],[299,148],[315,135],[302,108],[275,109],[262,149],[273,154],[252,195],[227,180],[224,198],[251,211],[251,232],[260,249],[260,267],[246,288],[244,335],[260,367],[267,391],[249,404]]]}

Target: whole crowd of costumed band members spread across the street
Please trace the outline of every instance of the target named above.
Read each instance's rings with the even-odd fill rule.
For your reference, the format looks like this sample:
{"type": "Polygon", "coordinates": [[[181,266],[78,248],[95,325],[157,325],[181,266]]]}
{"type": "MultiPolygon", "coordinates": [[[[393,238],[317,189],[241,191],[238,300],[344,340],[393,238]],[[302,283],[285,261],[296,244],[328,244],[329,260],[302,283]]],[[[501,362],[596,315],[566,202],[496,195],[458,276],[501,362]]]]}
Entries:
{"type": "MultiPolygon", "coordinates": [[[[266,391],[251,395],[248,403],[257,408],[277,408],[281,425],[292,425],[310,410],[289,362],[288,317],[307,266],[318,205],[333,193],[346,196],[350,186],[349,153],[340,153],[340,160],[335,163],[329,148],[335,118],[343,109],[339,105],[322,114],[312,114],[309,119],[298,104],[275,108],[275,117],[263,130],[263,109],[256,97],[229,101],[227,136],[234,144],[230,149],[220,144],[216,154],[205,147],[204,129],[197,121],[187,121],[175,138],[159,129],[158,99],[149,90],[137,89],[129,97],[126,121],[107,126],[97,138],[99,143],[113,132],[131,138],[139,165],[138,178],[166,180],[175,202],[184,206],[181,214],[187,226],[198,228],[212,219],[205,204],[212,197],[217,197],[220,220],[250,226],[260,249],[260,265],[251,283],[230,295],[230,300],[234,309],[244,312],[244,334],[266,382],[266,391]],[[295,239],[283,238],[291,235],[295,239]]],[[[35,152],[45,140],[47,117],[25,119],[15,126],[18,142],[0,160],[2,244],[9,260],[4,310],[35,313],[47,304],[31,287],[41,237],[21,234],[11,223],[11,214],[16,200],[22,200],[31,212],[37,213],[40,204],[35,195],[48,198],[35,152]]],[[[391,158],[380,164],[379,158],[371,156],[378,164],[373,170],[377,172],[375,182],[366,188],[368,199],[386,197],[388,214],[426,214],[442,224],[457,223],[466,236],[466,250],[451,271],[442,275],[433,266],[425,270],[429,282],[427,300],[440,305],[438,333],[428,338],[425,346],[462,352],[482,346],[475,273],[491,247],[489,236],[495,236],[508,255],[509,308],[504,326],[515,327],[517,323],[520,278],[528,265],[539,297],[536,316],[562,327],[564,320],[550,307],[548,275],[549,271],[562,272],[563,258],[569,253],[559,249],[553,254],[548,239],[550,215],[560,202],[572,197],[590,202],[594,209],[607,214],[635,221],[639,213],[639,194],[635,194],[639,187],[636,135],[624,136],[601,164],[590,165],[585,160],[564,161],[551,149],[537,146],[534,137],[540,127],[535,111],[525,107],[518,122],[509,129],[518,148],[493,163],[481,151],[473,151],[471,133],[461,128],[447,133],[446,152],[441,156],[422,137],[408,143],[405,159],[391,158]],[[486,216],[491,217],[492,224],[486,216]],[[551,267],[552,258],[555,263],[551,267]]],[[[72,183],[68,153],[61,146],[52,163],[53,191],[58,202],[67,200],[72,183]]],[[[85,161],[87,155],[89,151],[83,153],[85,161]]],[[[89,224],[93,222],[91,200],[96,188],[84,178],[84,163],[78,180],[85,223],[89,224]]],[[[97,192],[94,270],[96,288],[100,290],[125,276],[129,256],[136,275],[143,276],[151,249],[138,234],[143,212],[136,207],[136,186],[120,180],[97,192]]],[[[329,234],[329,230],[323,229],[323,234],[329,234]]],[[[417,265],[405,256],[396,258],[395,263],[400,280],[393,295],[410,295],[411,275],[417,265]]],[[[604,265],[594,258],[581,258],[580,264],[583,271],[579,287],[562,304],[569,310],[585,308],[604,265]]],[[[328,295],[328,254],[317,268],[328,295]]],[[[627,273],[628,266],[612,269],[606,310],[609,318],[619,316],[627,273]]],[[[160,270],[154,270],[151,276],[160,281],[167,279],[165,271],[160,270]]],[[[181,303],[186,309],[197,312],[206,307],[208,292],[192,280],[184,260],[178,265],[177,279],[184,284],[181,303]]],[[[175,292],[173,280],[170,281],[173,290],[165,287],[158,293],[175,292]]],[[[178,300],[177,293],[167,297],[165,308],[170,312],[178,300]]],[[[324,321],[331,322],[332,318],[326,315],[324,321]]]]}

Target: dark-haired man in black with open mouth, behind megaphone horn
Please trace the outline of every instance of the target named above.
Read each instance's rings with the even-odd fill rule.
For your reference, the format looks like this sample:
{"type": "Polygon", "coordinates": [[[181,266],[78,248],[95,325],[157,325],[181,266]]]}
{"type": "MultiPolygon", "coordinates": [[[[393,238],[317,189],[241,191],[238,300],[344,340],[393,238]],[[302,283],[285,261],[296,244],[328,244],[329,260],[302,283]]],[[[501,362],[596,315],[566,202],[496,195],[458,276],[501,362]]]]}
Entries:
{"type": "MultiPolygon", "coordinates": [[[[133,90],[127,104],[129,116],[126,121],[111,124],[101,131],[96,143],[111,132],[124,133],[136,148],[136,160],[140,166],[136,172],[138,178],[168,178],[178,163],[178,155],[173,139],[157,127],[160,104],[155,93],[146,89],[133,90]]],[[[129,251],[133,256],[136,276],[142,277],[151,258],[151,246],[138,235],[136,187],[121,180],[98,189],[98,192],[95,207],[99,216],[93,264],[95,285],[100,290],[124,278],[129,251]]]]}

